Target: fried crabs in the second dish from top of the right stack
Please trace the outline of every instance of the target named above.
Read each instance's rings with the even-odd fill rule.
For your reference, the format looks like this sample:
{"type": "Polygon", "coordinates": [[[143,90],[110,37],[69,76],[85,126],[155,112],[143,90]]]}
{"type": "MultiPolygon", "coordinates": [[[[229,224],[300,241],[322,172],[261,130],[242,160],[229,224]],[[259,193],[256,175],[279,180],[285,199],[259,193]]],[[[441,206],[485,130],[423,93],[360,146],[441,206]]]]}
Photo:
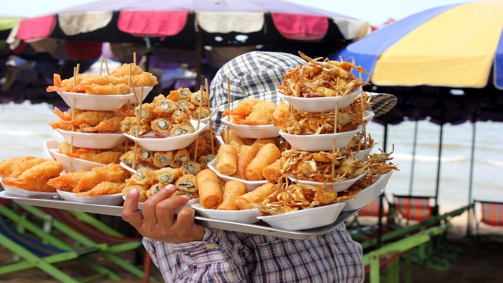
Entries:
{"type": "MultiPolygon", "coordinates": [[[[304,112],[291,109],[281,102],[273,113],[275,127],[292,134],[324,134],[333,133],[334,111],[304,112]]],[[[339,110],[337,116],[338,132],[357,129],[362,123],[361,111],[353,112],[351,107],[339,110]]]]}

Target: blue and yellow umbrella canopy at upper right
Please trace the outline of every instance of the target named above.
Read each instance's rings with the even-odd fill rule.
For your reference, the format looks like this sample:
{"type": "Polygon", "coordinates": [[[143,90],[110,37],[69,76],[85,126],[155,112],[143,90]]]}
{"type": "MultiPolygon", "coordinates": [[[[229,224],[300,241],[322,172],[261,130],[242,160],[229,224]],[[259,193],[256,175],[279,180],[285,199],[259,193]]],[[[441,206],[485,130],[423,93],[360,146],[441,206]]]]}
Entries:
{"type": "Polygon", "coordinates": [[[493,67],[490,83],[503,89],[501,15],[501,1],[426,10],[373,32],[333,58],[371,70],[371,82],[378,86],[483,88],[493,67]]]}

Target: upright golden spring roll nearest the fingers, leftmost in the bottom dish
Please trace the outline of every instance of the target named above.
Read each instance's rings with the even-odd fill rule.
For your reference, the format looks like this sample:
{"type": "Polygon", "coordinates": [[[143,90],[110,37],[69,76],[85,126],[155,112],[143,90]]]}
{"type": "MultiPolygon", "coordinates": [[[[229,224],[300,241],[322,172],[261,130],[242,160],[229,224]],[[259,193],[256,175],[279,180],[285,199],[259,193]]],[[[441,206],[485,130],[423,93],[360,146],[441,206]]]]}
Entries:
{"type": "Polygon", "coordinates": [[[196,175],[199,203],[204,208],[215,209],[222,202],[222,190],[218,177],[211,169],[204,169],[196,175]]]}

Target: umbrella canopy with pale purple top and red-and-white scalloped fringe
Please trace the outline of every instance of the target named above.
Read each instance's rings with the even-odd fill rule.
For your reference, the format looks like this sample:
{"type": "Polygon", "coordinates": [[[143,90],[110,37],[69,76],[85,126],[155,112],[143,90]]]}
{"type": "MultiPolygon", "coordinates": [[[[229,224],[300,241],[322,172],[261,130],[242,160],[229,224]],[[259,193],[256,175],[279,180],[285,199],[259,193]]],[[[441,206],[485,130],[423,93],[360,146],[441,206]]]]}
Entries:
{"type": "Polygon", "coordinates": [[[279,0],[103,0],[24,20],[18,38],[141,42],[147,35],[154,41],[157,38],[164,43],[193,46],[194,33],[199,30],[204,34],[204,44],[228,46],[243,41],[253,45],[285,40],[352,40],[366,34],[369,25],[279,0]]]}

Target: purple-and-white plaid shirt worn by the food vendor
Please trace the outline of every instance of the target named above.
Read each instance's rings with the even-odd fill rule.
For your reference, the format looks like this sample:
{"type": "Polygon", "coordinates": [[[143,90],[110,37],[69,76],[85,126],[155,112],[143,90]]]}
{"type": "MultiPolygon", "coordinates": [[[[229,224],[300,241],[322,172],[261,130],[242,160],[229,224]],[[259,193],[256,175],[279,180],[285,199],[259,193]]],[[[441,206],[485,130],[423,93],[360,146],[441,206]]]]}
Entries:
{"type": "Polygon", "coordinates": [[[166,282],[363,282],[362,248],[341,224],[311,240],[206,228],[201,242],[143,239],[166,282]]]}

